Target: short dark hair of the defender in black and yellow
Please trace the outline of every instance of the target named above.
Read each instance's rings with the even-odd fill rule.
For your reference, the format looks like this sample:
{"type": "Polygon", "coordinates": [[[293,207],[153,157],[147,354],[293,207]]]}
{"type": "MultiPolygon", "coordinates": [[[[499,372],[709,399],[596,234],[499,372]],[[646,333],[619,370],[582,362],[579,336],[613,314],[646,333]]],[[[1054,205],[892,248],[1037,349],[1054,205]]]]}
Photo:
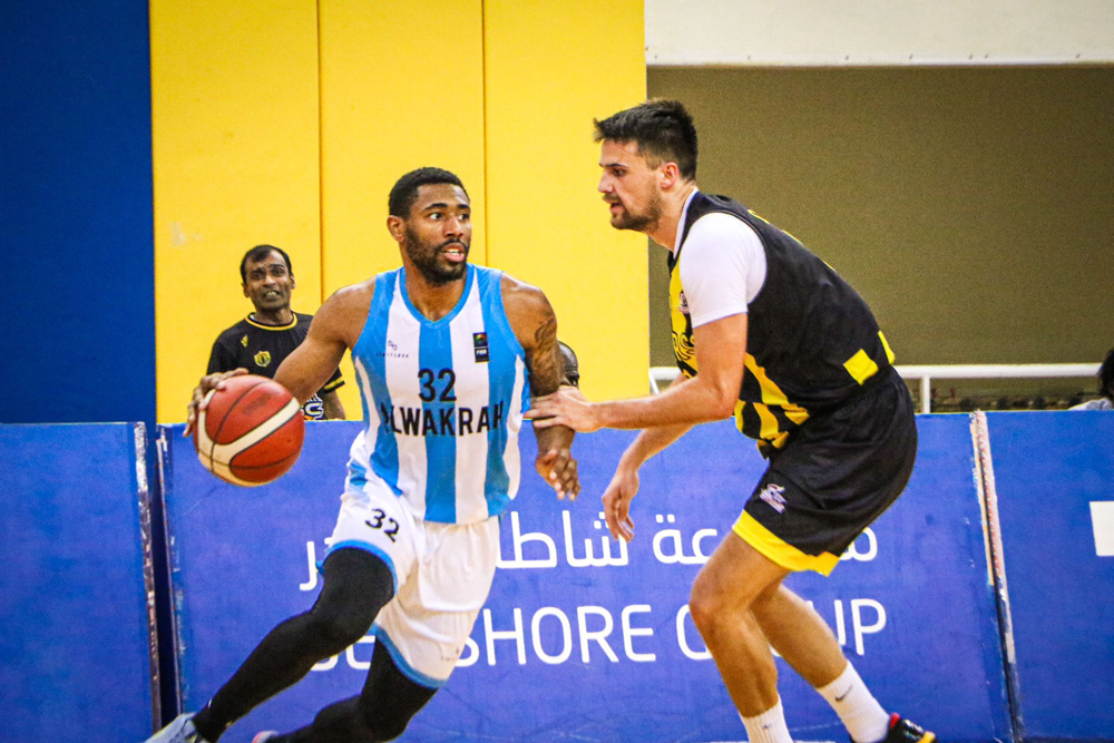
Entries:
{"type": "Polygon", "coordinates": [[[680,100],[654,98],[633,108],[594,119],[596,141],[634,141],[648,165],[676,163],[682,177],[696,179],[696,125],[680,100]]]}

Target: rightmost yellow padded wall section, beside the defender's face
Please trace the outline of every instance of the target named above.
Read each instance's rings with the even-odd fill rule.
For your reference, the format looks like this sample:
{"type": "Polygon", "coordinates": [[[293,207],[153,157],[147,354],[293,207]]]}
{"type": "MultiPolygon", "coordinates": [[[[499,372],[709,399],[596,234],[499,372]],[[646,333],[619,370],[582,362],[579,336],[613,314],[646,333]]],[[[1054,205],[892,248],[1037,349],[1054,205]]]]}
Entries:
{"type": "Polygon", "coordinates": [[[596,185],[593,118],[646,96],[643,3],[485,3],[488,258],[541,287],[593,399],[648,391],[646,238],[596,185]]]}

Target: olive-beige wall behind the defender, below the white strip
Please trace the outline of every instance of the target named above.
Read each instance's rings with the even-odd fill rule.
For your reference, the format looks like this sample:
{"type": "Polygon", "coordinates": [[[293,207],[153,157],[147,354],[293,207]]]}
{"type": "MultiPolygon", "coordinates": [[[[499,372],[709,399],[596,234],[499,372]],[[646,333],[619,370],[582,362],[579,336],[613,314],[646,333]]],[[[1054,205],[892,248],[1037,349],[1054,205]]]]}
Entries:
{"type": "MultiPolygon", "coordinates": [[[[700,185],[834,266],[899,364],[1114,345],[1114,68],[651,68],[648,89],[694,114],[700,185]]],[[[672,363],[651,310],[652,361],[672,363]]]]}

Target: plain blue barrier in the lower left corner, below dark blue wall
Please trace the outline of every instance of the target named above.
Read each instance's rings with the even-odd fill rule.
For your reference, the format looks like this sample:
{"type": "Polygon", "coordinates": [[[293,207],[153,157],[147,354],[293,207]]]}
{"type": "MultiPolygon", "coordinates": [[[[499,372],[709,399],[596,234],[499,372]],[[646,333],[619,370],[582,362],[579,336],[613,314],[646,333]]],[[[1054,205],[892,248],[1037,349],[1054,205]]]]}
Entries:
{"type": "Polygon", "coordinates": [[[148,654],[144,436],[135,423],[0,426],[6,743],[150,735],[158,690],[148,654]]]}

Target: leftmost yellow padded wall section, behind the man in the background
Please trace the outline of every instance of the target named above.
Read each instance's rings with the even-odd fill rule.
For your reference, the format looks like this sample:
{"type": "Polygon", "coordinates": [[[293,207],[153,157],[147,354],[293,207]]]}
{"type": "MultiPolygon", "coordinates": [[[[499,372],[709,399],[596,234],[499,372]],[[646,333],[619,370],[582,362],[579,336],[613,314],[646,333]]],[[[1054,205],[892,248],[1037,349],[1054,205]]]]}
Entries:
{"type": "Polygon", "coordinates": [[[152,0],[150,50],[157,414],[182,421],[252,311],[247,248],[290,253],[293,309],[320,304],[316,2],[152,0]]]}

